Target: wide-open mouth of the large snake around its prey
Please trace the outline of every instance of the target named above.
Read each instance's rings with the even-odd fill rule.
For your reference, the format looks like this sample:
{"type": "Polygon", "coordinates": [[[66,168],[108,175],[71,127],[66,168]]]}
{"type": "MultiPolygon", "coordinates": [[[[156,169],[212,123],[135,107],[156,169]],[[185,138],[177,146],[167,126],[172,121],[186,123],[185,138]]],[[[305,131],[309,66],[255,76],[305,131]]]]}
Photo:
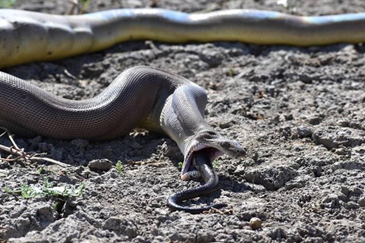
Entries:
{"type": "Polygon", "coordinates": [[[219,149],[204,145],[204,144],[197,144],[191,148],[188,155],[186,156],[183,164],[183,169],[181,170],[181,180],[187,180],[190,176],[187,175],[188,172],[196,171],[195,167],[193,166],[193,155],[196,151],[202,150],[209,155],[210,163],[212,163],[216,157],[221,156],[223,154],[222,151],[219,149]]]}

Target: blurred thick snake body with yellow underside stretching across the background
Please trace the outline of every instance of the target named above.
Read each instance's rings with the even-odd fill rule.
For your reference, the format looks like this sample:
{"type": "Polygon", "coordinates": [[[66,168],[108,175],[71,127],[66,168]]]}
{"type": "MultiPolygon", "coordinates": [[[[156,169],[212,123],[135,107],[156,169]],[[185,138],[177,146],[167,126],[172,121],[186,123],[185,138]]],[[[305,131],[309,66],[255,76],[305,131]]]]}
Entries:
{"type": "Polygon", "coordinates": [[[0,67],[100,51],[126,40],[312,46],[364,42],[364,29],[365,13],[295,16],[253,9],[183,13],[137,8],[61,16],[0,9],[0,67]]]}

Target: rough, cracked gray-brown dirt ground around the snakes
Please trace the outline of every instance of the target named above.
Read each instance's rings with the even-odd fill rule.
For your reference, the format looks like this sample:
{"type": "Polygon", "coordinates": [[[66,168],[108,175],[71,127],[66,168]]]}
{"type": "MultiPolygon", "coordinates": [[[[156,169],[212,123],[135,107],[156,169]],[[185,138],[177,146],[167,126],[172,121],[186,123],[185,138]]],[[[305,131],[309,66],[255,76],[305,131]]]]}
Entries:
{"type": "MultiPolygon", "coordinates": [[[[91,0],[88,11],[151,5],[185,12],[365,11],[361,0],[288,3],[284,8],[276,0],[91,0]]],[[[18,0],[13,7],[65,14],[70,3],[18,0]]],[[[171,70],[208,90],[207,121],[242,142],[248,156],[220,157],[220,190],[187,203],[228,207],[192,215],[171,212],[166,205],[173,192],[201,181],[180,181],[183,157],[164,135],[133,132],[100,142],[17,136],[26,151],[47,152],[70,167],[2,161],[0,169],[8,175],[0,177],[1,188],[43,183],[45,178],[57,185],[86,185],[80,197],[64,200],[24,199],[1,189],[0,242],[365,242],[364,51],[353,44],[298,48],[147,40],[3,69],[70,99],[96,95],[131,66],[171,70]],[[99,159],[110,160],[112,168],[99,159]],[[88,166],[92,160],[105,165],[104,170],[88,166]],[[115,168],[118,160],[121,174],[115,168]],[[262,227],[252,230],[251,217],[260,218],[262,227]]],[[[9,141],[3,137],[0,144],[9,141]]]]}

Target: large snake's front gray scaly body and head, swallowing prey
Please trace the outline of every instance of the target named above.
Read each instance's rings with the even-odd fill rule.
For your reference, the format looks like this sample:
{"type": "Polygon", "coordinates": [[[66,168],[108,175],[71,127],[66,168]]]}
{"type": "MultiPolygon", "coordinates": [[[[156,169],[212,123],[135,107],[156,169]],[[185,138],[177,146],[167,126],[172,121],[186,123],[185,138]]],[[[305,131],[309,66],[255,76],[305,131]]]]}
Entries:
{"type": "MultiPolygon", "coordinates": [[[[99,95],[81,101],[58,97],[4,72],[0,72],[0,90],[0,126],[22,136],[101,140],[123,136],[136,127],[163,132],[184,154],[182,179],[194,170],[192,158],[201,149],[206,164],[222,153],[245,156],[237,141],[221,136],[205,122],[205,91],[160,68],[129,68],[99,95]]],[[[200,170],[203,175],[205,171],[200,170]]],[[[218,178],[213,182],[218,183],[218,178]]],[[[190,191],[179,195],[192,198],[210,191],[211,187],[201,187],[193,195],[190,191]]]]}

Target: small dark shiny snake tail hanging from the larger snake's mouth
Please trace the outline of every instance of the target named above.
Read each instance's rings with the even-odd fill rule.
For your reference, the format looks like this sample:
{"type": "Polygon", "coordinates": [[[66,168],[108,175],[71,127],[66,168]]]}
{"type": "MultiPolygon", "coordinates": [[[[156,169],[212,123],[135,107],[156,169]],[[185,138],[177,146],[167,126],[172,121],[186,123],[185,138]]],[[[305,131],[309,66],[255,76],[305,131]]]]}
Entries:
{"type": "Polygon", "coordinates": [[[171,195],[168,199],[168,205],[170,209],[185,211],[188,213],[201,213],[211,208],[222,208],[227,206],[227,204],[219,203],[207,207],[193,208],[193,207],[184,207],[177,204],[178,202],[184,200],[189,200],[195,197],[207,195],[218,189],[218,175],[215,172],[212,163],[210,163],[210,158],[208,156],[209,152],[204,150],[205,149],[202,149],[195,153],[193,157],[193,166],[197,169],[200,176],[203,177],[205,184],[195,188],[188,188],[171,195]]]}

